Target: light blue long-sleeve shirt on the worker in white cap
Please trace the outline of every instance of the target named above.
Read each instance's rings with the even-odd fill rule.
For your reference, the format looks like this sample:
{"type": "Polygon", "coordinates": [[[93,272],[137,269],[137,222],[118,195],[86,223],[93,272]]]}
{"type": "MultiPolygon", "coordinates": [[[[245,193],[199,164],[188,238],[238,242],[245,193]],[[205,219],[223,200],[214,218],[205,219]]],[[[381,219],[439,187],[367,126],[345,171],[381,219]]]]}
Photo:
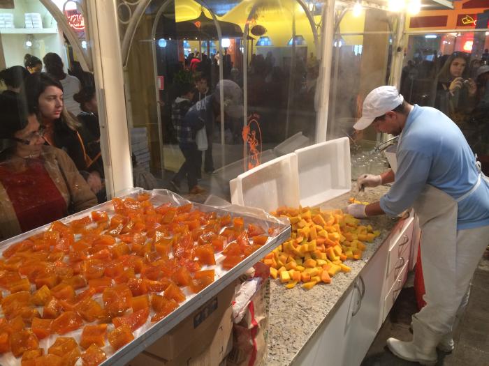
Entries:
{"type": "MultiPolygon", "coordinates": [[[[397,146],[397,171],[391,190],[381,197],[388,215],[411,207],[430,184],[458,199],[476,184],[474,154],[460,129],[439,110],[414,105],[397,146]]],[[[458,203],[457,229],[489,225],[489,183],[458,203]]]]}

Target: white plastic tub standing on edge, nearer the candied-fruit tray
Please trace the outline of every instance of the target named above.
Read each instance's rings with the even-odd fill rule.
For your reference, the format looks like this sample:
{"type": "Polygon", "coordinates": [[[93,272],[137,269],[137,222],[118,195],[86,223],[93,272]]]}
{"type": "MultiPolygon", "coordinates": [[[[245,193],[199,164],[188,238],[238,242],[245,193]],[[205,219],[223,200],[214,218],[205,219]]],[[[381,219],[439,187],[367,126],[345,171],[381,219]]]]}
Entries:
{"type": "Polygon", "coordinates": [[[229,182],[231,202],[270,212],[299,206],[297,156],[290,153],[254,167],[229,182]]]}

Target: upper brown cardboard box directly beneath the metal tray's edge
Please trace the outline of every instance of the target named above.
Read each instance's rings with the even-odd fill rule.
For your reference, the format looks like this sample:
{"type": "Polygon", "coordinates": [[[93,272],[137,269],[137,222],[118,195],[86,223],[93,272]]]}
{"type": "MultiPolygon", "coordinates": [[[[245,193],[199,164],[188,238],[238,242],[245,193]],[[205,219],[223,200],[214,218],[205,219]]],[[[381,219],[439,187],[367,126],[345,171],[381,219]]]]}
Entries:
{"type": "Polygon", "coordinates": [[[202,353],[212,342],[212,335],[217,332],[224,313],[231,307],[234,288],[235,282],[229,284],[169,333],[147,347],[145,352],[165,360],[174,360],[190,346],[193,355],[202,353]]]}

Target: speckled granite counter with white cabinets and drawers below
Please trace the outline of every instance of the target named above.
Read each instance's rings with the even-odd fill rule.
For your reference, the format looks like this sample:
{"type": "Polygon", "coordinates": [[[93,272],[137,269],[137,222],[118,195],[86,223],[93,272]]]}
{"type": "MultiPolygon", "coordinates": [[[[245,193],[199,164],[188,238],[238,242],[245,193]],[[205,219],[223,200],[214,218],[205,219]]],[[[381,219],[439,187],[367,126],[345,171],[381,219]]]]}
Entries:
{"type": "MultiPolygon", "coordinates": [[[[387,191],[372,188],[362,199],[377,201],[387,191]]],[[[349,197],[320,206],[342,208],[349,197]]],[[[345,262],[350,272],[310,290],[272,281],[267,365],[360,365],[412,268],[414,218],[381,215],[362,223],[381,234],[367,244],[362,259],[345,262]]]]}

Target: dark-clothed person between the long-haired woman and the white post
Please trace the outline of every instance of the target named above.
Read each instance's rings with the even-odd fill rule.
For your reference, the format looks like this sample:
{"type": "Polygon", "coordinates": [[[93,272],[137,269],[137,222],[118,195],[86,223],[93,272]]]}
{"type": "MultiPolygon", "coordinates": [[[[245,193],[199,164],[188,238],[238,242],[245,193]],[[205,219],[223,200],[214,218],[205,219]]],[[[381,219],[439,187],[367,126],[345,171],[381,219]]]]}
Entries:
{"type": "MultiPolygon", "coordinates": [[[[98,174],[101,179],[102,189],[96,192],[99,203],[107,201],[105,186],[103,185],[104,171],[103,160],[100,150],[100,124],[98,123],[98,105],[93,86],[86,86],[73,98],[80,103],[82,112],[78,114],[78,121],[81,128],[78,128],[80,135],[79,142],[85,151],[85,176],[88,174],[98,174]]],[[[86,176],[88,178],[88,176],[86,176]]],[[[98,181],[98,179],[97,179],[98,181]]]]}

